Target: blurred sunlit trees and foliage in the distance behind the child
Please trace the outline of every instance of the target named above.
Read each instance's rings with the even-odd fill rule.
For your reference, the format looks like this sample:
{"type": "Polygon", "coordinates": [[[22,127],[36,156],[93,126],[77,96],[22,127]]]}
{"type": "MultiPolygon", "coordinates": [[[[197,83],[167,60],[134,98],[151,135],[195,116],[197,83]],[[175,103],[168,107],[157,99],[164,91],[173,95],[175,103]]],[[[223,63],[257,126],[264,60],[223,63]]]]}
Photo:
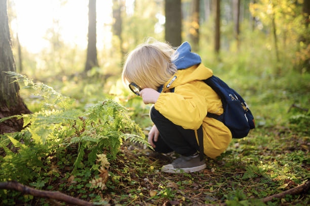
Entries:
{"type": "Polygon", "coordinates": [[[65,80],[84,71],[103,80],[119,76],[124,56],[149,36],[173,46],[189,41],[206,65],[228,62],[231,70],[262,76],[308,72],[308,4],[302,0],[97,1],[90,7],[96,19],[89,23],[97,22],[90,33],[88,1],[9,0],[8,12],[17,72],[33,79],[65,80]],[[89,58],[97,62],[86,66],[87,45],[94,42],[97,54],[91,48],[89,58]]]}

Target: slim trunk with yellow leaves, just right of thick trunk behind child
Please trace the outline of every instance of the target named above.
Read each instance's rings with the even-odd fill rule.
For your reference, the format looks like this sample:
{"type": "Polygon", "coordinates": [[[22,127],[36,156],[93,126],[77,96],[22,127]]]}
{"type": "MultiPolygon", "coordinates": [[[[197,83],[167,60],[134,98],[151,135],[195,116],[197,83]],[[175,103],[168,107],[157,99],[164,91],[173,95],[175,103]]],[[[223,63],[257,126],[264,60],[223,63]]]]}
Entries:
{"type": "Polygon", "coordinates": [[[199,49],[199,19],[200,19],[200,0],[193,0],[191,3],[191,21],[190,21],[190,39],[192,42],[192,49],[198,51],[199,49]]]}

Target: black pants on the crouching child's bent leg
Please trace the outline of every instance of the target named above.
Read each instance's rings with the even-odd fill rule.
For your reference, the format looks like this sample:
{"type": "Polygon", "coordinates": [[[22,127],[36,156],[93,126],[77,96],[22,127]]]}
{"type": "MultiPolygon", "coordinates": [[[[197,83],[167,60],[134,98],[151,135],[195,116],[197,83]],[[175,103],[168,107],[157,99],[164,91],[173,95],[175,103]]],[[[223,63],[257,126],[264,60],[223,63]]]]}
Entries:
{"type": "Polygon", "coordinates": [[[173,124],[154,106],[150,110],[150,118],[160,133],[157,142],[154,142],[155,151],[161,153],[175,151],[183,156],[191,156],[199,150],[194,130],[173,124]]]}

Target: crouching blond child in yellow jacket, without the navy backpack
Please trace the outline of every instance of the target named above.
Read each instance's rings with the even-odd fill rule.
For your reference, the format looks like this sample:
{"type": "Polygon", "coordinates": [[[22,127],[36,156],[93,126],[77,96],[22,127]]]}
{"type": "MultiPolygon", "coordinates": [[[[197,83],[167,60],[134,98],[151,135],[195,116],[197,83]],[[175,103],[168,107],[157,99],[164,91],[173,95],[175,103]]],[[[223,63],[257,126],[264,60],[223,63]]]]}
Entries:
{"type": "Polygon", "coordinates": [[[122,79],[140,95],[144,104],[154,104],[150,118],[154,123],[148,142],[155,151],[175,151],[180,157],[162,167],[163,172],[197,172],[206,168],[199,157],[197,130],[203,128],[204,153],[219,156],[231,141],[231,132],[207,113],[223,113],[216,92],[202,80],[213,75],[199,55],[191,53],[188,42],[176,50],[153,41],[135,48],[127,57],[122,79]]]}

